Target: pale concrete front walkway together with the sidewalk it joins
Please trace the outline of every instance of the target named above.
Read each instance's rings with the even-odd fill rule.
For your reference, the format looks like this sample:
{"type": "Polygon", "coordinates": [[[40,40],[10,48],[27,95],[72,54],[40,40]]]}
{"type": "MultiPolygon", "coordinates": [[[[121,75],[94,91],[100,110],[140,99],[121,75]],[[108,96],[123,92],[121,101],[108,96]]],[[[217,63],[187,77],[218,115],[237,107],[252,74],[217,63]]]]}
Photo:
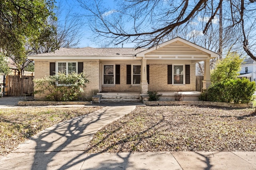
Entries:
{"type": "Polygon", "coordinates": [[[256,170],[256,152],[84,153],[96,131],[135,107],[113,104],[50,127],[2,157],[0,169],[256,170]]]}

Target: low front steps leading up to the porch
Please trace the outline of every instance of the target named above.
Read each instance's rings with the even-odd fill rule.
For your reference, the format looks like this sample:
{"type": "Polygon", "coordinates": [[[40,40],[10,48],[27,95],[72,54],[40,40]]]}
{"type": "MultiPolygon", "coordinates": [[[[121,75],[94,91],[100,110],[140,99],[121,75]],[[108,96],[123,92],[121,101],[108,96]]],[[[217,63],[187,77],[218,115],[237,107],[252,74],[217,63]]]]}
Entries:
{"type": "Polygon", "coordinates": [[[140,92],[106,92],[97,93],[96,102],[140,102],[140,92]]]}

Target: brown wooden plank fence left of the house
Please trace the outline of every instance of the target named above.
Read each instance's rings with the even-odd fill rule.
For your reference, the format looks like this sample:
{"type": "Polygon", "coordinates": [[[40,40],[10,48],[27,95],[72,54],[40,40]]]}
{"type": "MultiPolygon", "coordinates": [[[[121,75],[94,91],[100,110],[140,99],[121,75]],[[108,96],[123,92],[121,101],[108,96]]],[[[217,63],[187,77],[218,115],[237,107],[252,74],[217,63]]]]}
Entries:
{"type": "Polygon", "coordinates": [[[34,92],[34,76],[6,76],[4,96],[32,96],[34,92]]]}

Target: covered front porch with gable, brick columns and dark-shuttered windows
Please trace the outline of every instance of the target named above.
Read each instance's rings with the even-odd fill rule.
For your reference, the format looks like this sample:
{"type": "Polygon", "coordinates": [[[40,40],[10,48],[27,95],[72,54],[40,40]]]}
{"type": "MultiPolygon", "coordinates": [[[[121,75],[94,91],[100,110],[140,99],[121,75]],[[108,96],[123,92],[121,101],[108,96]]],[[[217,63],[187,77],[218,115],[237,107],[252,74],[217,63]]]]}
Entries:
{"type": "Polygon", "coordinates": [[[116,60],[109,57],[100,60],[99,92],[133,91],[144,96],[148,91],[163,92],[163,96],[174,96],[174,92],[178,91],[195,92],[196,63],[201,61],[204,61],[202,84],[203,89],[206,89],[210,86],[210,59],[215,57],[218,54],[180,37],[130,58],[124,56],[116,60]]]}

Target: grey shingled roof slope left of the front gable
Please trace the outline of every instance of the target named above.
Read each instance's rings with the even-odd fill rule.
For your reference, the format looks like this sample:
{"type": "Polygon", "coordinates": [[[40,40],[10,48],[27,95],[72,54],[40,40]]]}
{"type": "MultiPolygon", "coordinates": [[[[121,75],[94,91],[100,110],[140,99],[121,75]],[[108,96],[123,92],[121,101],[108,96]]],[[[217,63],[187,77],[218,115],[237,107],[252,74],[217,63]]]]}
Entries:
{"type": "Polygon", "coordinates": [[[55,52],[37,54],[33,56],[135,56],[145,49],[135,48],[60,48],[55,52]]]}

